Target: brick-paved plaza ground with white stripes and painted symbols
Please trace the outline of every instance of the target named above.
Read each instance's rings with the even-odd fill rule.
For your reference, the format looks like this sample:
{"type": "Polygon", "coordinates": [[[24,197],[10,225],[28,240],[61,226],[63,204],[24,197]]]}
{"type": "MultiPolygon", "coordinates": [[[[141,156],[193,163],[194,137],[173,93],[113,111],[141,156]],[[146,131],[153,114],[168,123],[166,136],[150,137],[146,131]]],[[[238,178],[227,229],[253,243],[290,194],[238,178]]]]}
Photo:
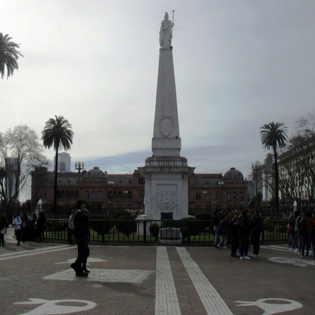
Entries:
{"type": "Polygon", "coordinates": [[[90,246],[91,273],[76,277],[76,246],[15,246],[13,233],[0,247],[0,315],[315,314],[314,257],[287,245],[251,260],[213,247],[90,246]]]}

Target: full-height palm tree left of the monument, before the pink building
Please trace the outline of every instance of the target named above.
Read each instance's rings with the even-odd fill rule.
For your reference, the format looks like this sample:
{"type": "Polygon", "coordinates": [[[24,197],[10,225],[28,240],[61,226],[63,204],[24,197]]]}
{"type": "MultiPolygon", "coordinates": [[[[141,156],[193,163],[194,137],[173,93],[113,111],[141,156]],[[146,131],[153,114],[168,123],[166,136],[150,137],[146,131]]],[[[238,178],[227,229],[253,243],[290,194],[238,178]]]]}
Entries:
{"type": "Polygon", "coordinates": [[[63,116],[56,119],[50,118],[41,132],[44,147],[50,149],[54,147],[56,150],[55,158],[55,186],[54,186],[54,210],[57,209],[57,171],[58,171],[58,150],[64,149],[65,151],[71,148],[73,131],[70,130],[71,124],[63,116]]]}

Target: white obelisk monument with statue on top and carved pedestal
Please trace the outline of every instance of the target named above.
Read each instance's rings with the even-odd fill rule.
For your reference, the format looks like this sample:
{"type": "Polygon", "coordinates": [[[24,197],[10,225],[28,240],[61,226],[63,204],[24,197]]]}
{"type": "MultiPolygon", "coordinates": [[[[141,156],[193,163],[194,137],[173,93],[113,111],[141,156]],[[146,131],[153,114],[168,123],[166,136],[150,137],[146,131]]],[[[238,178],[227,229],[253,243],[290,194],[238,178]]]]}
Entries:
{"type": "Polygon", "coordinates": [[[194,167],[180,156],[176,86],[171,46],[174,23],[161,22],[156,111],[152,157],[138,167],[145,177],[145,214],[138,220],[179,220],[188,217],[188,178],[194,167]]]}

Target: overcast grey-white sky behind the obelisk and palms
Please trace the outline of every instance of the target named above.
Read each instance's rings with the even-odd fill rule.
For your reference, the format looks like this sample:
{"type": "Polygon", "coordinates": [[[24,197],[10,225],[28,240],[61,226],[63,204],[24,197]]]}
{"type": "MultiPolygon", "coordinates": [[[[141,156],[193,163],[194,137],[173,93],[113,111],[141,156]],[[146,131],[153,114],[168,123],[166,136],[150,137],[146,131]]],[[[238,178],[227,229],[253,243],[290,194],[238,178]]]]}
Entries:
{"type": "Polygon", "coordinates": [[[111,173],[143,166],[160,22],[172,10],[181,155],[195,173],[247,176],[267,153],[260,126],[281,122],[291,134],[314,110],[314,0],[0,0],[0,32],[24,55],[0,81],[0,130],[27,124],[40,138],[62,115],[72,170],[76,160],[111,173]]]}

